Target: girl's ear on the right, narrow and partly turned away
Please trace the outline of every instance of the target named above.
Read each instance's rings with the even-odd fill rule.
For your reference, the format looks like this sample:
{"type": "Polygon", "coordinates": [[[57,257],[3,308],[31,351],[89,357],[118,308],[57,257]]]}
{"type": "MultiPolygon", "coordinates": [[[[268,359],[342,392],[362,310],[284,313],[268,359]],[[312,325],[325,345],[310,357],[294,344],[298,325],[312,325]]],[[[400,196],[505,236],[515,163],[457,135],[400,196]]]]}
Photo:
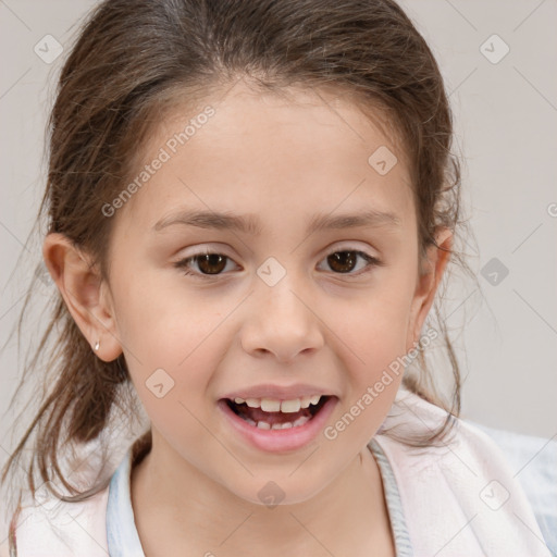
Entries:
{"type": "Polygon", "coordinates": [[[423,323],[433,305],[437,286],[450,258],[453,232],[448,228],[441,228],[435,234],[435,244],[428,246],[426,255],[420,261],[418,282],[408,323],[407,351],[420,339],[423,323]]]}

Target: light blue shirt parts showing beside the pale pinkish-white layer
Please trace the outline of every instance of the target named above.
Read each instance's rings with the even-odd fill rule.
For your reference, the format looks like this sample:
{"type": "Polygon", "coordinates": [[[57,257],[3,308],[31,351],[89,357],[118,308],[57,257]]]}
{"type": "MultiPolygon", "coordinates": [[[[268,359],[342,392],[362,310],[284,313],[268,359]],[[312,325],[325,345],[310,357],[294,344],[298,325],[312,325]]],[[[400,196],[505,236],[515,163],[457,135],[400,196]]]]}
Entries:
{"type": "MultiPolygon", "coordinates": [[[[557,443],[473,424],[487,433],[516,470],[534,510],[547,547],[557,554],[557,443]]],[[[369,443],[381,472],[397,557],[412,557],[395,476],[381,447],[369,443]]],[[[112,475],[107,508],[110,557],[145,557],[134,521],[131,497],[131,447],[112,475]]]]}

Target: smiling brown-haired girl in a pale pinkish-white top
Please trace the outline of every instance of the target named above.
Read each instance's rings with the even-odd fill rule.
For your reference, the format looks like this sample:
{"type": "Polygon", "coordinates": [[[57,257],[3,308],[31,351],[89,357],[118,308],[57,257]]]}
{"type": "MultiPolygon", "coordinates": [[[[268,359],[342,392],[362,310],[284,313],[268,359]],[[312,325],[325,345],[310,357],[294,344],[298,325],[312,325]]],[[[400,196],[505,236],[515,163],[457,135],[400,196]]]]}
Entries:
{"type": "Polygon", "coordinates": [[[394,1],[102,2],[50,131],[58,344],[11,556],[549,555],[426,320],[459,164],[394,1]]]}

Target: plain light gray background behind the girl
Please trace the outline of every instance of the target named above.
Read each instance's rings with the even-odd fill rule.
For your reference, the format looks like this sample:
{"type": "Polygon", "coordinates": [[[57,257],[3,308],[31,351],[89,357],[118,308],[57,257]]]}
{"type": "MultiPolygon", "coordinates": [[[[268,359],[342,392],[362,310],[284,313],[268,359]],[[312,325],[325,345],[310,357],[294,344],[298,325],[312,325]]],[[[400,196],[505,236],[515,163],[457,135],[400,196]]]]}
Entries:
{"type": "MultiPolygon", "coordinates": [[[[33,263],[40,257],[38,238],[26,250],[23,245],[42,194],[45,123],[63,59],[47,64],[34,47],[44,44],[47,34],[67,45],[79,18],[95,4],[0,0],[2,345],[21,310],[33,263]],[[15,269],[22,252],[24,259],[15,269]]],[[[462,414],[486,425],[554,437],[557,2],[405,0],[401,4],[440,62],[456,117],[456,150],[465,159],[463,200],[475,234],[466,252],[481,289],[455,276],[447,293],[447,323],[467,375],[462,414]],[[492,51],[488,55],[500,55],[503,42],[487,40],[494,34],[510,49],[497,63],[481,51],[485,44],[484,49],[492,51]],[[492,284],[494,271],[497,284],[492,284]]],[[[34,309],[38,320],[40,304],[34,309]]],[[[22,338],[23,348],[29,342],[30,337],[22,338]]],[[[18,373],[12,337],[1,352],[0,465],[13,448],[8,401],[18,373]]]]}

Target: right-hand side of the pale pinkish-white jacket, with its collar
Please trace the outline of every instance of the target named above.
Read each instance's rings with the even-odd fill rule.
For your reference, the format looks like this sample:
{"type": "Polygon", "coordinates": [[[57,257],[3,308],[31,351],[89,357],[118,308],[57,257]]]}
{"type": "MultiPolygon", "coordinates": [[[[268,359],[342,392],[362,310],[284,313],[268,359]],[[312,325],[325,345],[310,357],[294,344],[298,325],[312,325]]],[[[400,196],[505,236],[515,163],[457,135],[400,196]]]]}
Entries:
{"type": "MultiPolygon", "coordinates": [[[[401,436],[428,434],[445,418],[438,407],[401,391],[386,430],[401,436]],[[410,416],[414,419],[408,420],[410,416]]],[[[531,505],[500,449],[463,420],[453,433],[449,441],[430,445],[426,455],[387,431],[375,437],[393,467],[416,557],[549,556],[531,505]]]]}

